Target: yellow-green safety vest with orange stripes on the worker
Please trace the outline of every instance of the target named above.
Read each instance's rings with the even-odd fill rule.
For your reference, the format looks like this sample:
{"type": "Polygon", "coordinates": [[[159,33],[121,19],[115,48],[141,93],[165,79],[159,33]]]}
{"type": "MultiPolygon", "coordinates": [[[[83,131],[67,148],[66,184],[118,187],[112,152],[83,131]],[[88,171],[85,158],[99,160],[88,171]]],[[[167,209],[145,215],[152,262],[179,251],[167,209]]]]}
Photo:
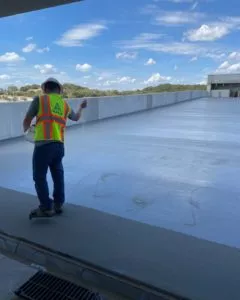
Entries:
{"type": "Polygon", "coordinates": [[[40,96],[34,140],[64,143],[64,131],[69,113],[69,105],[59,94],[40,96]]]}

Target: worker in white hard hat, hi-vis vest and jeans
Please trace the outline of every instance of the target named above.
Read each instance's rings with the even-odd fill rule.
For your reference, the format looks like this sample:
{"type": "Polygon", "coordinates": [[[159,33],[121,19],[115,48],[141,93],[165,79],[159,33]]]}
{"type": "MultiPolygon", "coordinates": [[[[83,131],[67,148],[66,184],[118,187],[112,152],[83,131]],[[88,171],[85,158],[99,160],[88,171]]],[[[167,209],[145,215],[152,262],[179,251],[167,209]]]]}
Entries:
{"type": "Polygon", "coordinates": [[[63,99],[63,86],[55,78],[48,78],[41,88],[43,95],[33,98],[23,120],[23,130],[26,132],[36,117],[32,171],[40,205],[30,214],[33,217],[52,217],[54,213],[63,212],[65,202],[62,160],[66,121],[68,118],[78,121],[87,101],[84,100],[78,111],[74,112],[63,99]],[[48,168],[54,184],[53,199],[49,197],[48,168]]]}

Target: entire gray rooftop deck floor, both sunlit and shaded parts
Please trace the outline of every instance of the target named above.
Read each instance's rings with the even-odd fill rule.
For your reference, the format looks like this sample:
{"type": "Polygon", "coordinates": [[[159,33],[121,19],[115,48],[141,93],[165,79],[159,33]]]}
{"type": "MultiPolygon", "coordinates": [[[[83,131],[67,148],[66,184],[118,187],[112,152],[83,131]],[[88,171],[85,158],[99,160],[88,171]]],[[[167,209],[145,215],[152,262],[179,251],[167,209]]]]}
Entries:
{"type": "Polygon", "coordinates": [[[239,113],[204,98],[69,128],[66,214],[39,222],[32,145],[3,142],[2,231],[158,291],[238,299],[239,113]]]}

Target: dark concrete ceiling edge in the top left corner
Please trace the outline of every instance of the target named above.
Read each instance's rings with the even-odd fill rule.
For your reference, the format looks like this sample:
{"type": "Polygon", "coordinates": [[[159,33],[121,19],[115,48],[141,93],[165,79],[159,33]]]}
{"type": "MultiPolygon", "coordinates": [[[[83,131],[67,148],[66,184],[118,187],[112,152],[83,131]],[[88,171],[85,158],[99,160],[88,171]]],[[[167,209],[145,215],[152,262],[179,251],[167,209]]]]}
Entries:
{"type": "Polygon", "coordinates": [[[0,18],[82,0],[0,0],[0,18]]]}

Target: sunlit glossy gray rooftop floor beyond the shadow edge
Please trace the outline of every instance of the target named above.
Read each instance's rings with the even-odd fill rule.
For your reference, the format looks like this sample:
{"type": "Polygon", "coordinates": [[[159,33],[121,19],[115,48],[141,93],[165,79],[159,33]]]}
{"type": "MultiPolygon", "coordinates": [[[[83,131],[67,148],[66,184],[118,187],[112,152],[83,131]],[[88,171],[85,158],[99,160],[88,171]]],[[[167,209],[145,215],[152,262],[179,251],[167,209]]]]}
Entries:
{"type": "MultiPolygon", "coordinates": [[[[239,114],[200,99],[68,130],[67,202],[240,248],[239,114]]],[[[31,155],[1,144],[0,185],[34,195],[31,155]]]]}

